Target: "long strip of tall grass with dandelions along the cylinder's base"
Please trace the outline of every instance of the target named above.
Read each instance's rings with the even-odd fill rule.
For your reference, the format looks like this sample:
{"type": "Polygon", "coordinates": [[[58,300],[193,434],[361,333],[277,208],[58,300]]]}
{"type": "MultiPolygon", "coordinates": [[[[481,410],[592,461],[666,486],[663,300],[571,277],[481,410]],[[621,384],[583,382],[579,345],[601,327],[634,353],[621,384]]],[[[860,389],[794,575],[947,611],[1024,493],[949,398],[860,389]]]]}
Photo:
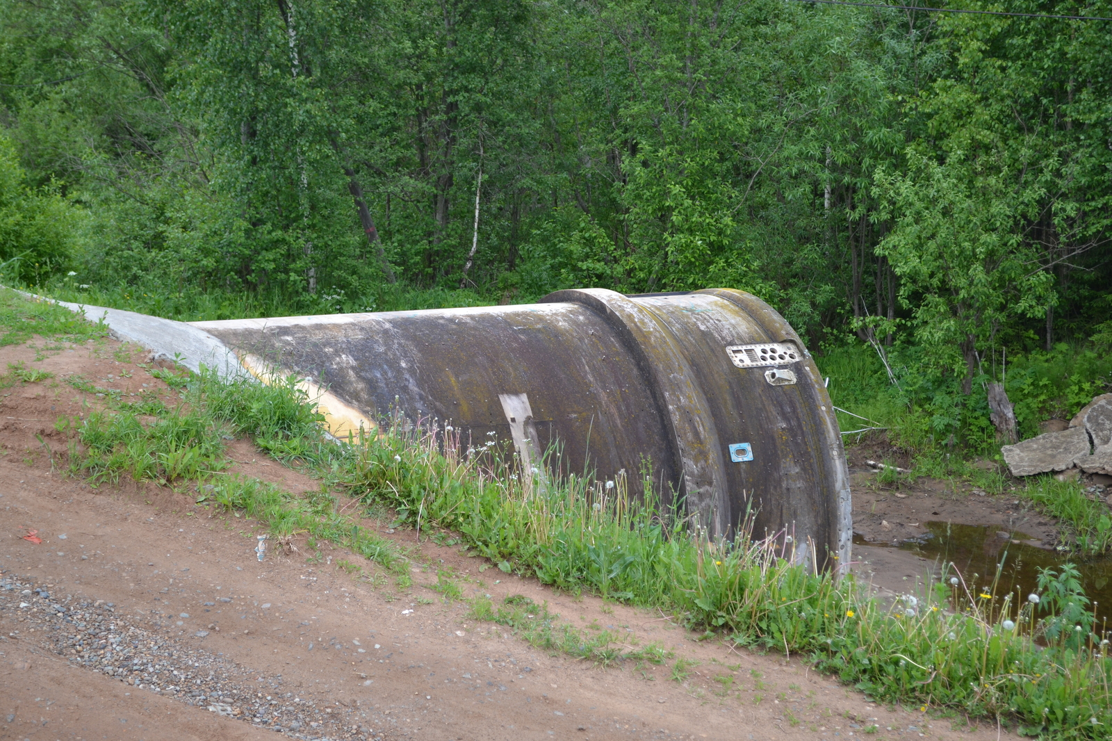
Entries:
{"type": "Polygon", "coordinates": [[[629,501],[620,484],[613,496],[575,477],[534,487],[497,460],[468,456],[443,431],[399,429],[355,446],[351,491],[410,521],[421,512],[495,563],[666,609],[738,644],[806,654],[877,699],[1000,714],[1056,738],[1105,738],[1112,723],[1112,663],[1100,636],[1086,629],[1083,640],[1036,645],[1065,599],[1044,599],[1035,615],[1030,605],[941,589],[914,607],[885,607],[852,579],[793,565],[771,542],[693,537],[671,513],[629,501]],[[1004,620],[1020,628],[1004,630],[1004,620]]]}

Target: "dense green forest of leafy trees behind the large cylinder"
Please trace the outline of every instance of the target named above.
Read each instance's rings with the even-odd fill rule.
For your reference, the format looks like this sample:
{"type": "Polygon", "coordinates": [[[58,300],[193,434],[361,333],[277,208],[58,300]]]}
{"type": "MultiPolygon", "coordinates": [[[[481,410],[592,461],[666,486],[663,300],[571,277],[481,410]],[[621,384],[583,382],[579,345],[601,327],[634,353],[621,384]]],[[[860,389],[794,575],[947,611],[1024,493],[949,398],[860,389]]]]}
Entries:
{"type": "Polygon", "coordinates": [[[876,343],[895,383],[863,403],[916,444],[994,442],[1005,350],[1026,435],[1112,379],[1104,21],[0,0],[0,260],[59,297],[196,319],[744,288],[814,347],[876,343]]]}

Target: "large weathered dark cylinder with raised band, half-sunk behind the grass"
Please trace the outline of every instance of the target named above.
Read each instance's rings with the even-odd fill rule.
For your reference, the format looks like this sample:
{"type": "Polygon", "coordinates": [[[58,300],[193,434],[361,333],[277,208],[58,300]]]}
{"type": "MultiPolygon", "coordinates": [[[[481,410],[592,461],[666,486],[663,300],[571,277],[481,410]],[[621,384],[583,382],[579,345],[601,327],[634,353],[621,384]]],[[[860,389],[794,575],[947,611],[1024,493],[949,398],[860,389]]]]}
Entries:
{"type": "Polygon", "coordinates": [[[830,396],[798,335],[749,294],[562,290],[532,305],[193,326],[245,365],[327,388],[334,416],[436,418],[465,443],[513,441],[527,465],[557,445],[548,465],[599,480],[625,471],[632,488],[647,468],[664,503],[711,537],[752,512],[757,535],[803,546],[797,559],[848,563],[830,396]]]}

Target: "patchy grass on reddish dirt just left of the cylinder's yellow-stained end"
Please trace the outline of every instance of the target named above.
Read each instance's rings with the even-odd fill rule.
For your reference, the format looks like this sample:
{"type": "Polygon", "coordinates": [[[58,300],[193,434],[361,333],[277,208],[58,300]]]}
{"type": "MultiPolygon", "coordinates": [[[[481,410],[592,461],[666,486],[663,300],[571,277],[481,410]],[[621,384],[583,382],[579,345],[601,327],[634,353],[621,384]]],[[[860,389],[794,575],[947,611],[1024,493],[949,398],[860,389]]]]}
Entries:
{"type": "Polygon", "coordinates": [[[254,437],[276,457],[325,472],[342,460],[345,451],[321,436],[320,418],[291,379],[265,386],[222,384],[211,373],[192,381],[181,377],[186,387],[176,407],[157,399],[127,404],[108,397],[109,408],[86,419],[59,419],[59,429],[76,431],[70,472],[93,484],[115,484],[122,476],[170,486],[196,481],[198,504],[255,517],[279,541],[306,534],[348,547],[389,571],[405,569],[406,554],[340,513],[327,491],[296,497],[226,473],[227,443],[240,435],[254,437]]]}

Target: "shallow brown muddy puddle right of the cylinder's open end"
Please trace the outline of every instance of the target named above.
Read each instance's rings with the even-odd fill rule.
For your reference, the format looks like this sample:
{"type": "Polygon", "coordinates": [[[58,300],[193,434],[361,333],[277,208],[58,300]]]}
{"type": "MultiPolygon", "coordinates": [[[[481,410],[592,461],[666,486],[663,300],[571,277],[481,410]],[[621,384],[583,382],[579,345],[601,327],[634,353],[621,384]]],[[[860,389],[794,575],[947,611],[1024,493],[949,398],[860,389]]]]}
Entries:
{"type": "Polygon", "coordinates": [[[1034,536],[1004,530],[1000,525],[946,522],[925,522],[923,525],[926,533],[898,545],[870,542],[860,536],[854,537],[854,542],[873,547],[898,547],[940,567],[947,567],[947,571],[956,570],[971,591],[991,586],[997,565],[1002,564],[995,594],[1002,597],[1019,592],[1021,600],[1036,591],[1040,569],[1056,571],[1063,563],[1070,562],[1081,573],[1085,595],[1096,603],[1098,624],[1106,619],[1112,623],[1112,556],[1068,557],[1064,553],[1033,545],[1039,542],[1034,536]]]}

